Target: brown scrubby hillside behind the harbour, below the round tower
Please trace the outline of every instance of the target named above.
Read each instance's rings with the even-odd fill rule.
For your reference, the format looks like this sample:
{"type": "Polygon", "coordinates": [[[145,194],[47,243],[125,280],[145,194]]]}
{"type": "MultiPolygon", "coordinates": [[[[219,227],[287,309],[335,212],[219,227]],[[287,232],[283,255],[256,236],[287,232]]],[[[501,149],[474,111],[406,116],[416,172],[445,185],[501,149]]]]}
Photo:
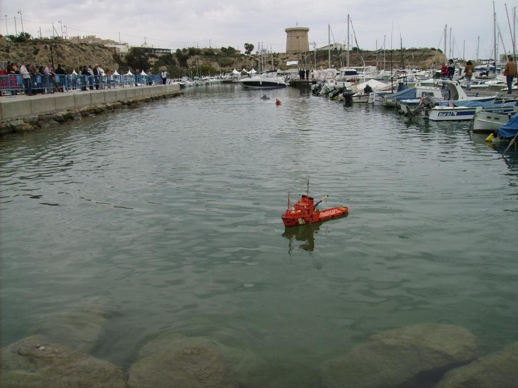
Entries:
{"type": "MultiPolygon", "coordinates": [[[[170,77],[194,76],[195,74],[218,74],[231,72],[234,68],[240,70],[243,67],[250,70],[258,70],[259,58],[254,53],[254,47],[250,43],[245,46],[248,51],[241,53],[233,47],[205,48],[194,47],[178,49],[171,54],[153,54],[149,49],[134,47],[127,54],[117,53],[114,48],[101,44],[74,43],[61,39],[32,39],[27,36],[4,37],[0,36],[0,61],[23,62],[31,64],[47,65],[59,63],[65,65],[69,71],[78,70],[82,66],[99,64],[105,71],[118,70],[125,72],[145,70],[160,72],[166,69],[170,77]]],[[[378,65],[379,68],[392,67],[426,69],[434,64],[444,61],[444,55],[434,48],[387,50],[383,52],[363,51],[353,48],[350,51],[350,65],[366,66],[378,65]]],[[[287,69],[286,62],[299,61],[303,68],[324,69],[328,67],[328,52],[319,50],[307,53],[273,53],[263,57],[266,69],[287,69]],[[272,65],[273,63],[273,65],[272,65]]],[[[331,66],[339,68],[346,64],[346,52],[332,50],[331,66]]]]}

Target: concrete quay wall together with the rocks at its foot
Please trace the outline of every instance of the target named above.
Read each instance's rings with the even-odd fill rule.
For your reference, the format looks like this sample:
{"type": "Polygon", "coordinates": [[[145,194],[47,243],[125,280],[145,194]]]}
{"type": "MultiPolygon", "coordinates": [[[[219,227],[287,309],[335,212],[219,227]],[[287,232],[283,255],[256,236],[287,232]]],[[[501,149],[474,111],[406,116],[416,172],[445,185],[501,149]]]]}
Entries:
{"type": "Polygon", "coordinates": [[[0,98],[0,136],[33,131],[53,124],[117,109],[136,108],[140,103],[181,95],[180,86],[152,85],[100,89],[87,92],[0,98]]]}

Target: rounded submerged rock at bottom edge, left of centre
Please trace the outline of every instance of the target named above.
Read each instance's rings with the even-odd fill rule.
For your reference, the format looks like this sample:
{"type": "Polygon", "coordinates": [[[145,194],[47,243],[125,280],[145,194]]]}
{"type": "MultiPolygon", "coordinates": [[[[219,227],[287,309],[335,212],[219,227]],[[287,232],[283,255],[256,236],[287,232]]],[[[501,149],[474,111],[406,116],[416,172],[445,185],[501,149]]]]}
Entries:
{"type": "Polygon", "coordinates": [[[264,364],[247,351],[203,337],[168,335],[149,342],[129,371],[132,388],[261,387],[264,364]]]}

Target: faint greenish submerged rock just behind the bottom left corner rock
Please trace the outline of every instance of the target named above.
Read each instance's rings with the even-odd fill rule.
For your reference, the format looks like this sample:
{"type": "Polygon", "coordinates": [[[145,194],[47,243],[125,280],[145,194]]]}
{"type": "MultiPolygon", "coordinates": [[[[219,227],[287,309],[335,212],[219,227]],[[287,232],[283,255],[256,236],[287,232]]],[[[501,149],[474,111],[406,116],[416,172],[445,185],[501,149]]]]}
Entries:
{"type": "Polygon", "coordinates": [[[107,299],[95,299],[74,306],[68,312],[50,314],[36,322],[31,332],[51,342],[91,353],[104,334],[107,299]]]}

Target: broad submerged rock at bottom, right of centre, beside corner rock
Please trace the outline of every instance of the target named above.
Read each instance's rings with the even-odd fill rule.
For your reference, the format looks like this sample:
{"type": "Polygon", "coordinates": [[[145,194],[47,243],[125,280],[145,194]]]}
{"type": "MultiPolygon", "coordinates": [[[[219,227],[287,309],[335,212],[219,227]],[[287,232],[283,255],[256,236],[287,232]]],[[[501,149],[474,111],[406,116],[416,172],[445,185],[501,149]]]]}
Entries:
{"type": "Polygon", "coordinates": [[[321,378],[328,388],[423,388],[474,360],[477,350],[477,338],[462,326],[401,327],[373,335],[349,354],[325,362],[321,378]]]}

